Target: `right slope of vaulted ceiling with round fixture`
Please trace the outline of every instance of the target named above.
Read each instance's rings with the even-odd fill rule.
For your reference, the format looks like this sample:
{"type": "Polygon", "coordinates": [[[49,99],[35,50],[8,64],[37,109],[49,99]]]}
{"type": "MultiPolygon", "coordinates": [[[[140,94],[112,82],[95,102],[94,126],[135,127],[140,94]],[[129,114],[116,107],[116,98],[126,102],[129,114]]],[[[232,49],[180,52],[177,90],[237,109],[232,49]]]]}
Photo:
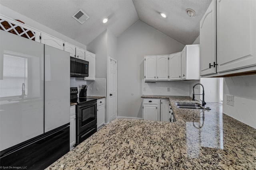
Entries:
{"type": "Polygon", "coordinates": [[[180,43],[192,44],[199,35],[199,23],[212,0],[133,0],[139,19],[180,43]],[[196,12],[190,17],[186,9],[196,12]],[[160,12],[167,15],[162,18],[160,12]]]}

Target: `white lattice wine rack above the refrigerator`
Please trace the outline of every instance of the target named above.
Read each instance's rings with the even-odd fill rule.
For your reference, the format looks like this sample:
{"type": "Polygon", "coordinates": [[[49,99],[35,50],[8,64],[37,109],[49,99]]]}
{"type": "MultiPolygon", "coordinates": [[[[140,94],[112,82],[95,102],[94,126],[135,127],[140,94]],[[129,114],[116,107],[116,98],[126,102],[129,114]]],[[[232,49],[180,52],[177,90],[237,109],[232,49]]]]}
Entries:
{"type": "Polygon", "coordinates": [[[25,37],[27,39],[31,39],[31,40],[35,41],[36,35],[33,31],[30,31],[21,26],[10,23],[9,21],[0,19],[0,29],[4,30],[6,32],[13,33],[15,35],[25,37]]]}

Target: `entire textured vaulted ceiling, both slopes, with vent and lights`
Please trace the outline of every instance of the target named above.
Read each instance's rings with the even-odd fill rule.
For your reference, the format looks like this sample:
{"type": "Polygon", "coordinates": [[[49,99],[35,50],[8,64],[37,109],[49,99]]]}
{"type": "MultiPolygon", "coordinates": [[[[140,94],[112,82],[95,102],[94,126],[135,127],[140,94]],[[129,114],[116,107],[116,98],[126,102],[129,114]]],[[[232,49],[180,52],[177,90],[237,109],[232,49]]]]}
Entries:
{"type": "Polygon", "coordinates": [[[4,5],[84,45],[105,29],[117,37],[141,20],[182,44],[199,35],[199,23],[211,0],[0,0],[4,5]],[[186,9],[196,12],[190,17],[186,9]],[[82,9],[90,18],[83,24],[72,16],[82,9]],[[167,15],[162,18],[160,12],[167,15]],[[109,18],[105,24],[103,18],[109,18]]]}

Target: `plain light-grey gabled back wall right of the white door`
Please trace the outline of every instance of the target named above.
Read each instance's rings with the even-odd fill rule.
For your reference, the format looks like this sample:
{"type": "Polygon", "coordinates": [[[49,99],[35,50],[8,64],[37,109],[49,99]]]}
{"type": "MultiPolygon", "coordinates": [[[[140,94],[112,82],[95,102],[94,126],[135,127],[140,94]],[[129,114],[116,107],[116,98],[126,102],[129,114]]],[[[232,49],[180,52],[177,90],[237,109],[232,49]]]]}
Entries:
{"type": "Polygon", "coordinates": [[[183,48],[142,21],[118,37],[118,116],[142,118],[144,55],[172,54],[183,48]]]}

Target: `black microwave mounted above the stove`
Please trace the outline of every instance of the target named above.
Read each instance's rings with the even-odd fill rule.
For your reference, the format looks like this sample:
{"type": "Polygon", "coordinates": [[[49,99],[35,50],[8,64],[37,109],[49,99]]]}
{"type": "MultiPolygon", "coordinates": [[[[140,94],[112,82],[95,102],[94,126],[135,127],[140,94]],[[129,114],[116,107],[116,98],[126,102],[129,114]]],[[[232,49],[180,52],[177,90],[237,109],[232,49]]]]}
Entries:
{"type": "Polygon", "coordinates": [[[88,77],[89,62],[81,59],[70,57],[70,76],[88,77]]]}

